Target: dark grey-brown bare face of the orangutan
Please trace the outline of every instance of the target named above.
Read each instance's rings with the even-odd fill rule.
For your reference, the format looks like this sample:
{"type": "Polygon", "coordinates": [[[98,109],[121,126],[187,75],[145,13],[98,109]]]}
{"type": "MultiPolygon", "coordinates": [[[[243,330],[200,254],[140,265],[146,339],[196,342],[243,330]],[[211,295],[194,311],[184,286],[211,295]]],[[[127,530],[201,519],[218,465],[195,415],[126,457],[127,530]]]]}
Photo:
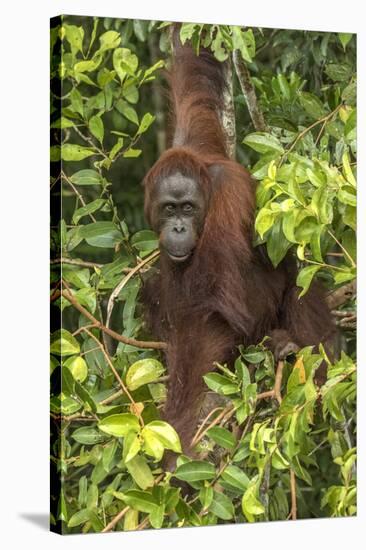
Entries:
{"type": "Polygon", "coordinates": [[[174,263],[191,256],[202,232],[206,203],[199,184],[180,173],[160,181],[154,193],[152,223],[160,248],[174,263]]]}

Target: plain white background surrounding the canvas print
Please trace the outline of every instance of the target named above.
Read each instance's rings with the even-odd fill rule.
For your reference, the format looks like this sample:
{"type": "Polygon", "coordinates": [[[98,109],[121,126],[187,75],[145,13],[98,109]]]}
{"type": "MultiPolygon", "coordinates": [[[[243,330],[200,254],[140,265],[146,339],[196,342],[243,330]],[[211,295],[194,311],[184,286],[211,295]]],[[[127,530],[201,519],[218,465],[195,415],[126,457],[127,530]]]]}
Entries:
{"type": "Polygon", "coordinates": [[[365,507],[365,17],[339,0],[8,0],[0,34],[2,548],[360,548],[365,507]],[[60,537],[48,532],[48,28],[61,13],[358,32],[358,518],[60,537]],[[4,307],[5,305],[5,307],[4,307]]]}

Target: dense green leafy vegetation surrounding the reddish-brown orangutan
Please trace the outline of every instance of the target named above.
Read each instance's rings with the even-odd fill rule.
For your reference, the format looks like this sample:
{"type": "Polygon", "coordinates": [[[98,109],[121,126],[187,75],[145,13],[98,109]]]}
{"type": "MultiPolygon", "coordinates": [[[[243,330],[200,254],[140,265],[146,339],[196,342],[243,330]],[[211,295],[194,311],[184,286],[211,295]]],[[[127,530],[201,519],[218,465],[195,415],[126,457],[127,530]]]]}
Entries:
{"type": "Polygon", "coordinates": [[[234,56],[236,157],[259,182],[256,244],[274,265],[297,255],[302,292],[322,280],[342,353],[331,363],[305,348],[276,365],[263,342],[239,348],[234,371],[205,376],[222,399],[196,432],[200,459],[162,470],[180,442],[161,419],[164,356],[143,344],[139,292],[158,252],[140,182],[167,142],[169,24],[55,20],[51,523],[64,533],[356,513],[355,37],[185,24],[181,38],[234,56]]]}

